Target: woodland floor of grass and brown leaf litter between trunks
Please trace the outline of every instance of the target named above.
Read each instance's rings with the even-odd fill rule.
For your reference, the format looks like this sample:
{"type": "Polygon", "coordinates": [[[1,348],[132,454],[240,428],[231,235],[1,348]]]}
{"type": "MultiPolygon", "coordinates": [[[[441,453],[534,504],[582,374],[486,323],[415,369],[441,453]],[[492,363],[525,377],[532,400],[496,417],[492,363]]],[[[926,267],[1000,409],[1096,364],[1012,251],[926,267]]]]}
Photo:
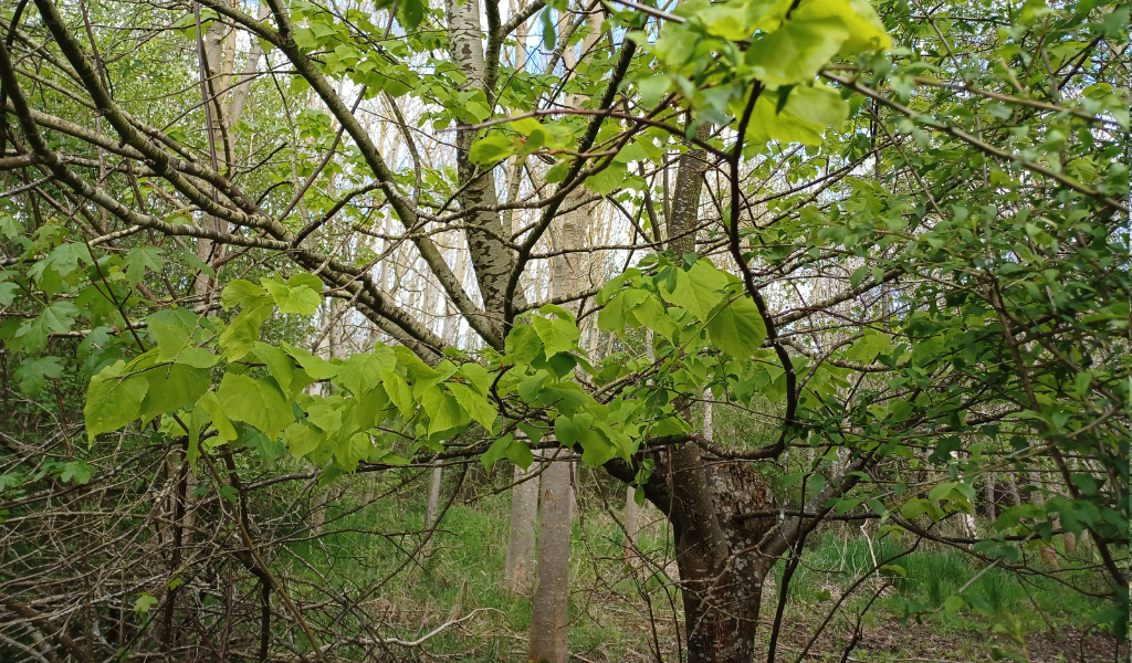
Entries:
{"type": "MultiPolygon", "coordinates": [[[[335,566],[335,571],[342,574],[343,586],[365,585],[380,578],[401,559],[388,541],[359,537],[357,532],[362,524],[387,531],[412,531],[420,526],[422,506],[417,500],[409,500],[396,508],[371,508],[337,523],[354,532],[326,541],[331,544],[327,552],[333,552],[337,545],[342,546],[341,553],[351,552],[352,563],[335,566]]],[[[512,595],[500,586],[508,513],[509,501],[501,496],[484,499],[475,508],[453,508],[423,567],[398,576],[381,593],[378,600],[384,613],[378,618],[383,622],[381,631],[396,632],[400,637],[420,637],[439,623],[484,609],[474,619],[448,629],[423,647],[397,652],[391,661],[525,661],[530,599],[512,595]]],[[[634,571],[624,566],[621,539],[619,528],[597,508],[589,510],[584,526],[575,522],[571,551],[572,661],[657,663],[659,644],[663,663],[676,663],[681,660],[676,631],[676,620],[680,618],[679,596],[676,592],[666,594],[659,577],[646,577],[644,567],[634,571]],[[650,597],[648,602],[645,596],[650,597]],[[651,620],[650,614],[654,619],[651,620]]],[[[993,569],[981,575],[964,594],[968,600],[983,597],[994,605],[993,610],[942,611],[944,599],[966,586],[983,567],[954,551],[926,546],[899,560],[906,577],[885,576],[885,584],[894,586],[885,589],[861,618],[863,637],[848,658],[843,657],[844,649],[858,612],[872,594],[867,589],[875,586],[873,580],[861,586],[861,595],[846,601],[843,612],[830,621],[806,657],[799,661],[803,648],[834,606],[841,588],[854,578],[872,572],[873,553],[890,559],[907,543],[874,537],[874,551],[869,541],[859,534],[831,531],[816,539],[791,583],[791,600],[782,622],[775,661],[1129,661],[1127,645],[1117,651],[1110,636],[1091,631],[1082,637],[1095,617],[1110,604],[1045,583],[1043,578],[1027,579],[1023,585],[1002,569],[993,569]],[[920,612],[923,623],[902,619],[909,610],[920,612]],[[1007,635],[1006,627],[1011,625],[1020,634],[1022,644],[1007,635]],[[1000,658],[995,658],[995,654],[1000,654],[1000,658]]],[[[654,556],[653,559],[670,562],[670,542],[662,523],[642,529],[641,546],[654,556]]],[[[310,549],[306,554],[317,557],[320,548],[310,549]]],[[[1103,588],[1099,578],[1077,577],[1077,582],[1095,591],[1103,588]]],[[[775,596],[777,593],[767,587],[758,627],[764,640],[762,652],[766,651],[775,596]]],[[[756,660],[764,661],[765,654],[757,655],[756,660]]]]}

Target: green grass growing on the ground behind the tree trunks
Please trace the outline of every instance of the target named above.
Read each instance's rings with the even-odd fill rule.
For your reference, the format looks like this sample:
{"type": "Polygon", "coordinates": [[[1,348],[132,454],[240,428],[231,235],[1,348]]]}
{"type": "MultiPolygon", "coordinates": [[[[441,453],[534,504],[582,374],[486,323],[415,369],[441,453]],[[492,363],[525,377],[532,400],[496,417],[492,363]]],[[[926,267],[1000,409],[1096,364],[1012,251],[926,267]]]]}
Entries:
{"type": "MultiPolygon", "coordinates": [[[[386,637],[419,637],[445,621],[486,608],[490,611],[478,614],[466,623],[468,628],[430,639],[430,654],[460,661],[523,660],[531,620],[530,600],[501,587],[509,497],[488,496],[473,506],[454,506],[422,566],[406,568],[391,579],[405,560],[404,550],[418,543],[411,533],[423,524],[423,490],[419,493],[413,499],[378,500],[341,518],[336,516],[349,503],[332,502],[327,532],[340,532],[329,533],[317,543],[292,545],[290,553],[316,568],[328,569],[326,579],[346,596],[360,596],[367,588],[380,585],[370,596],[379,605],[383,625],[378,630],[386,637]],[[409,534],[388,536],[378,532],[409,534]]],[[[646,572],[626,568],[621,562],[624,535],[619,527],[602,511],[597,497],[583,496],[582,502],[583,518],[574,522],[571,550],[571,651],[591,661],[654,660],[651,609],[657,615],[657,639],[664,657],[675,660],[674,611],[679,612],[678,592],[666,587],[657,576],[646,577],[646,572]]],[[[616,503],[619,508],[620,502],[616,503]]],[[[645,514],[659,518],[655,510],[645,514]]],[[[871,551],[869,541],[859,531],[839,532],[835,527],[812,540],[789,588],[788,617],[797,632],[784,637],[794,638],[795,643],[798,638],[808,639],[844,588],[873,568],[874,554],[883,560],[909,543],[893,536],[881,540],[874,536],[871,551]]],[[[671,561],[669,531],[662,520],[642,531],[641,545],[654,559],[671,561]]],[[[975,649],[986,651],[995,625],[1012,623],[1015,617],[1031,634],[1065,627],[1083,629],[1107,608],[1101,601],[1060,587],[1047,578],[1028,577],[1020,582],[1000,568],[971,582],[985,565],[951,549],[921,545],[892,565],[899,565],[903,575],[894,568],[883,571],[884,580],[893,589],[876,601],[864,623],[900,629],[904,622],[915,623],[915,619],[908,618],[919,613],[932,632],[969,642],[975,649]],[[968,584],[962,596],[983,610],[943,610],[947,597],[968,584]]],[[[298,563],[290,566],[295,575],[306,572],[298,563]]],[[[778,583],[781,562],[775,575],[778,583]]],[[[868,580],[846,600],[843,615],[827,629],[834,645],[851,629],[857,611],[876,587],[876,582],[868,580]]],[[[773,615],[775,600],[771,595],[764,600],[765,623],[773,615]]],[[[769,631],[767,627],[760,627],[763,637],[769,631]]]]}

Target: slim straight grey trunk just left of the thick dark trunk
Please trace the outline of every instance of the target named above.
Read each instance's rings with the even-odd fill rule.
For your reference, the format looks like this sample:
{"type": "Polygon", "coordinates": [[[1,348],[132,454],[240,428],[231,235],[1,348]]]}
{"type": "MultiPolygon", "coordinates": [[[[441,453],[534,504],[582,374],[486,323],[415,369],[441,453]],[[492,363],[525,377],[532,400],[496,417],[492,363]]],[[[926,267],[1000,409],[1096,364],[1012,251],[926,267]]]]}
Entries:
{"type": "Polygon", "coordinates": [[[539,511],[539,582],[531,614],[528,658],[567,663],[567,600],[569,596],[571,481],[569,451],[541,475],[539,511]]]}

